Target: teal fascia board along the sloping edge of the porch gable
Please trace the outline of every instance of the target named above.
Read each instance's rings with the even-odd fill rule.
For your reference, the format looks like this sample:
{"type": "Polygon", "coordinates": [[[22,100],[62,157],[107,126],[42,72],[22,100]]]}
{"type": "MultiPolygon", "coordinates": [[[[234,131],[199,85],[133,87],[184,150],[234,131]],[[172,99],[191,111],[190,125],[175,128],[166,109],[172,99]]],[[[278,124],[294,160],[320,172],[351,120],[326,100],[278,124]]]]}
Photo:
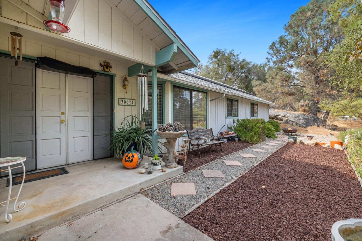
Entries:
{"type": "Polygon", "coordinates": [[[186,57],[188,57],[188,59],[195,65],[197,66],[199,63],[199,60],[197,59],[196,56],[193,55],[193,53],[191,52],[191,50],[188,50],[185,46],[184,43],[181,43],[180,41],[182,41],[181,39],[179,40],[174,33],[172,33],[170,31],[171,27],[167,27],[167,23],[163,21],[161,21],[161,17],[158,17],[155,12],[156,10],[154,10],[152,8],[152,6],[145,0],[134,0],[135,3],[148,15],[148,17],[151,18],[151,20],[172,40],[172,42],[174,42],[178,48],[180,48],[180,50],[186,55],[186,57]]]}

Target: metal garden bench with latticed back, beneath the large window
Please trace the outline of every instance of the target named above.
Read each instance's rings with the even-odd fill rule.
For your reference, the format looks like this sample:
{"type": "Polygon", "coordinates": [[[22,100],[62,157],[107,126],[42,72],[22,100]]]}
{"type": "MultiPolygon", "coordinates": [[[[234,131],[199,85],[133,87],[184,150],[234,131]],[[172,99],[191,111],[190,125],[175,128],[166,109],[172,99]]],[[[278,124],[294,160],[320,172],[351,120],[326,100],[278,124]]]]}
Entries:
{"type": "Polygon", "coordinates": [[[199,153],[199,158],[201,157],[200,154],[200,150],[199,148],[201,146],[208,146],[210,145],[210,149],[212,147],[212,145],[215,146],[220,146],[220,149],[222,149],[221,147],[221,143],[225,143],[225,141],[219,141],[219,136],[218,135],[214,135],[212,133],[212,128],[210,129],[205,129],[202,127],[196,127],[193,130],[187,130],[187,135],[189,137],[189,139],[191,140],[189,143],[189,151],[190,149],[195,150],[195,148],[197,147],[197,151],[199,153]],[[205,142],[204,140],[208,139],[210,141],[205,142]],[[197,140],[197,143],[192,143],[193,140],[197,140]]]}

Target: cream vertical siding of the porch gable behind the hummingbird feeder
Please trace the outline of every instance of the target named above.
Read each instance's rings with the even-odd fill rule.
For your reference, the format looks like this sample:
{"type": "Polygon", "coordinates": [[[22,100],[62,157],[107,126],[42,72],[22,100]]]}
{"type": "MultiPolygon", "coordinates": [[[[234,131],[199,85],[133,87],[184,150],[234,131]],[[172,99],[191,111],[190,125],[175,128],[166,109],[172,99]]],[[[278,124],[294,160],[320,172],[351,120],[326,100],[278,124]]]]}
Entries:
{"type": "MultiPolygon", "coordinates": [[[[7,0],[0,0],[0,16],[45,29],[43,23],[7,0]]],[[[70,22],[69,33],[54,33],[99,47],[132,61],[156,63],[156,46],[151,39],[109,0],[80,0],[70,22]]]]}

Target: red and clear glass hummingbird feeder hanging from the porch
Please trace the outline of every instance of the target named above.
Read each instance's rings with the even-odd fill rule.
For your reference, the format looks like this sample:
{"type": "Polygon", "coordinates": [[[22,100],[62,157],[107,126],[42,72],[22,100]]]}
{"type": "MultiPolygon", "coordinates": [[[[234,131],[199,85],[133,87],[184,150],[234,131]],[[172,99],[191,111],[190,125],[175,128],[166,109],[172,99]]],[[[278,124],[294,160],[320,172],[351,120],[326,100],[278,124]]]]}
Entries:
{"type": "Polygon", "coordinates": [[[69,33],[70,28],[62,23],[64,17],[64,1],[50,0],[49,4],[51,20],[43,21],[44,25],[59,33],[69,33]]]}

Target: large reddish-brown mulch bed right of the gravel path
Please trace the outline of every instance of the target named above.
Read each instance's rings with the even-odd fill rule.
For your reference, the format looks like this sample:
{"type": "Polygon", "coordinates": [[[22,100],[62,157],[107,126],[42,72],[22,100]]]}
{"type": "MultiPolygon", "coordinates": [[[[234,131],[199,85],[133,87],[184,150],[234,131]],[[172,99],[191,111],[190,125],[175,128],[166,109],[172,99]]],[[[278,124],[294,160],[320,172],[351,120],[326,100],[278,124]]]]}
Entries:
{"type": "Polygon", "coordinates": [[[344,152],[289,143],[184,221],[214,240],[306,241],[349,218],[362,218],[362,188],[344,152]]]}

